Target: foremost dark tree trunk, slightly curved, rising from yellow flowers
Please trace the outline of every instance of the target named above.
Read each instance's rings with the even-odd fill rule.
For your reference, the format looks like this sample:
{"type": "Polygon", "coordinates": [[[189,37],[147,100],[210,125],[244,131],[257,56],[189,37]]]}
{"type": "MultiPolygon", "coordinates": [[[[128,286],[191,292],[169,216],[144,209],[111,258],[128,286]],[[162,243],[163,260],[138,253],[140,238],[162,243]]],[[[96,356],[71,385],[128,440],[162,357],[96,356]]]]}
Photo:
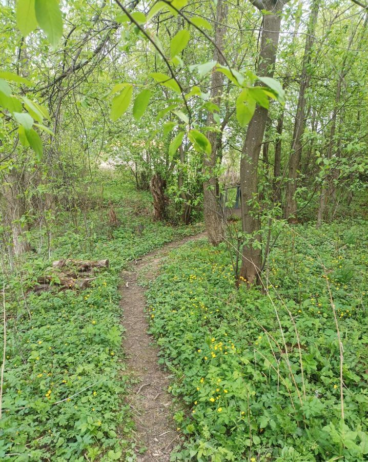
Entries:
{"type": "MultiPolygon", "coordinates": [[[[261,10],[268,10],[268,13],[263,15],[257,73],[261,76],[272,77],[280,35],[280,13],[286,2],[277,1],[275,4],[275,2],[268,0],[252,3],[261,10]]],[[[243,245],[240,280],[245,280],[249,285],[257,282],[262,264],[260,222],[256,211],[257,207],[252,205],[252,201],[258,202],[257,169],[267,115],[267,109],[260,106],[256,107],[248,126],[240,161],[242,230],[249,237],[248,242],[243,245]]]]}

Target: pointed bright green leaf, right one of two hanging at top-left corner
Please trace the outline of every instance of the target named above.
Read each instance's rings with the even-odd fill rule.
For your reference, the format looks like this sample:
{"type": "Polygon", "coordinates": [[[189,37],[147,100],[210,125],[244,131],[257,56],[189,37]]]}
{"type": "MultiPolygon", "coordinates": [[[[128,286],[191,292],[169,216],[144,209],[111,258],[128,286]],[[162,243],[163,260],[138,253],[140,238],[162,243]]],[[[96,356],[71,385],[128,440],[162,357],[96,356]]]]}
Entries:
{"type": "Polygon", "coordinates": [[[63,16],[57,0],[35,0],[36,18],[55,48],[63,35],[63,16]]]}

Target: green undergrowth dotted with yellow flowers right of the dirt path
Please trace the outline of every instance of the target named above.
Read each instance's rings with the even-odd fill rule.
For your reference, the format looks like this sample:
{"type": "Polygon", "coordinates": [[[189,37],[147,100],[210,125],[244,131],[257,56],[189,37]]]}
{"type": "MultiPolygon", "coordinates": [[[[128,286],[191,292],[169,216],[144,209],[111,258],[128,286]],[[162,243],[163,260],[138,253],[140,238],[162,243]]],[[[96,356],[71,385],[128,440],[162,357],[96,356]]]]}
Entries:
{"type": "Polygon", "coordinates": [[[171,393],[187,405],[172,460],[368,460],[367,228],[285,229],[265,271],[269,295],[234,288],[223,244],[171,254],[148,299],[171,393]]]}

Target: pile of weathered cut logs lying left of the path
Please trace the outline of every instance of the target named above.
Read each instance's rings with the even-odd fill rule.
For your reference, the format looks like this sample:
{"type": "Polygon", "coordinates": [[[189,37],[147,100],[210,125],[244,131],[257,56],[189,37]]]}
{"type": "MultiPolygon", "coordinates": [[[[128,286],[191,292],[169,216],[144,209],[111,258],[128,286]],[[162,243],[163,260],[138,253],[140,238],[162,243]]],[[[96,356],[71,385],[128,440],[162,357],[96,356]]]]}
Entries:
{"type": "Polygon", "coordinates": [[[67,289],[84,290],[96,279],[98,269],[109,267],[109,260],[56,260],[52,267],[59,271],[40,276],[28,292],[48,292],[53,288],[58,292],[67,289]]]}

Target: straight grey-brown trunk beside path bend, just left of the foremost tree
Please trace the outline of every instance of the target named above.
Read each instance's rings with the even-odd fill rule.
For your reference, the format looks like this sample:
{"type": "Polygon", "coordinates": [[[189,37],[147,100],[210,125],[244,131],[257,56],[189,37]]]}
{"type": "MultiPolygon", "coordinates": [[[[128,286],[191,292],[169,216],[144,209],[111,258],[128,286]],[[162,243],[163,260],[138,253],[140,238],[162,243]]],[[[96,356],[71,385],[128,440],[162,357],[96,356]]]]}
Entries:
{"type": "MultiPolygon", "coordinates": [[[[223,48],[223,35],[225,33],[224,23],[226,23],[227,3],[218,0],[216,11],[215,43],[216,47],[213,53],[213,60],[223,64],[223,58],[218,50],[223,48]]],[[[221,72],[212,72],[211,77],[211,100],[218,106],[221,103],[221,93],[223,85],[223,74],[221,72]]],[[[207,125],[214,124],[213,113],[209,112],[207,125]]],[[[211,244],[218,245],[224,238],[224,221],[221,213],[221,206],[218,197],[218,180],[215,173],[217,165],[217,133],[210,131],[208,140],[211,143],[211,156],[203,159],[204,174],[208,178],[203,182],[203,214],[205,215],[206,229],[211,244]]]]}

